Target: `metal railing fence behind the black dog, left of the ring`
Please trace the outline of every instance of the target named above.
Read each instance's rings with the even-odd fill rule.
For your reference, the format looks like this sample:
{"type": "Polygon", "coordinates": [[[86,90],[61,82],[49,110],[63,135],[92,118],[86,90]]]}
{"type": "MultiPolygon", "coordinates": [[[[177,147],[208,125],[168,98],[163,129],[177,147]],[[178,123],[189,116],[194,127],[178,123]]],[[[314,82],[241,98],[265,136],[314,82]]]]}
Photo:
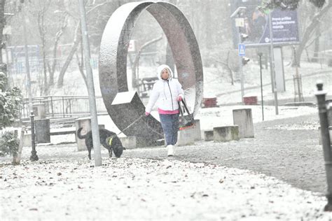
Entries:
{"type": "MultiPolygon", "coordinates": [[[[46,117],[81,117],[90,115],[88,96],[45,96],[34,97],[33,105],[43,104],[46,117]]],[[[97,113],[107,113],[102,96],[96,96],[97,113]]],[[[20,118],[29,118],[29,100],[24,99],[20,110],[20,118]]]]}

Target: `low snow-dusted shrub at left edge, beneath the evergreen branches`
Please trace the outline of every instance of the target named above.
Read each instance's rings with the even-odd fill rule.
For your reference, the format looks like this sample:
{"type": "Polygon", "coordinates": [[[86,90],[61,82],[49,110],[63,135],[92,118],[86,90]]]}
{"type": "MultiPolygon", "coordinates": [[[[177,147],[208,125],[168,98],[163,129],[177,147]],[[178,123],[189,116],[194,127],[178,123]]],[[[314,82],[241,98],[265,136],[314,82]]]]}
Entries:
{"type": "Polygon", "coordinates": [[[18,154],[18,146],[20,140],[18,139],[15,131],[4,131],[0,136],[0,156],[15,155],[18,154]]]}

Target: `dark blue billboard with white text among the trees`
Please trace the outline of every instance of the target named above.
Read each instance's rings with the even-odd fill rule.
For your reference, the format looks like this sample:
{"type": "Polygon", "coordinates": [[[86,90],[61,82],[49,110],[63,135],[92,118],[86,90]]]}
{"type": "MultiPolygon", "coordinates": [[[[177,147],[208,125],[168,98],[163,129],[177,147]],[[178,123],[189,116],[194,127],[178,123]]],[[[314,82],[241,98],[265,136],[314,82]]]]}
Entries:
{"type": "MultiPolygon", "coordinates": [[[[270,44],[270,27],[268,13],[258,10],[259,1],[231,1],[231,10],[244,6],[244,10],[239,17],[244,17],[244,27],[236,27],[233,19],[233,41],[239,43],[239,34],[247,34],[248,38],[242,42],[247,47],[270,44]]],[[[231,11],[230,13],[232,13],[231,11]]],[[[299,43],[298,37],[298,14],[296,10],[275,9],[271,12],[273,44],[289,45],[299,43]]]]}

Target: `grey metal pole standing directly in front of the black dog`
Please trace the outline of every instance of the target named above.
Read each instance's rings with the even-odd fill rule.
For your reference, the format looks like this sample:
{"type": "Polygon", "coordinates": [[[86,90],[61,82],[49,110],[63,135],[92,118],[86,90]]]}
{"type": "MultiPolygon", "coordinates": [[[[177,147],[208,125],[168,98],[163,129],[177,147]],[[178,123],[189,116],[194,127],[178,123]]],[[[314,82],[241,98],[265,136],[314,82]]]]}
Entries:
{"type": "Polygon", "coordinates": [[[90,45],[88,28],[86,25],[85,18],[85,7],[83,0],[78,0],[81,15],[81,30],[82,30],[82,40],[83,40],[83,50],[85,57],[85,69],[86,78],[88,82],[88,93],[89,93],[89,104],[90,104],[90,115],[91,115],[91,128],[92,128],[92,140],[93,140],[93,153],[95,158],[95,166],[102,166],[102,153],[100,150],[99,141],[99,128],[98,128],[98,118],[97,118],[97,108],[96,108],[96,97],[95,97],[95,87],[93,85],[92,69],[90,65],[90,45]]]}

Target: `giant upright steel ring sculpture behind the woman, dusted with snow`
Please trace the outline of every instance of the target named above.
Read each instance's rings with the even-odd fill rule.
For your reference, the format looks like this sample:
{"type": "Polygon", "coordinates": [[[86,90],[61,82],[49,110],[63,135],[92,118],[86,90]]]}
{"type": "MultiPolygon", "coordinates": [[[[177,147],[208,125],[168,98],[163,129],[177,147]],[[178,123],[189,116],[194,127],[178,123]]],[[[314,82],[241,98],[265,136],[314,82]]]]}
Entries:
{"type": "MultiPolygon", "coordinates": [[[[144,115],[144,104],[136,99],[127,110],[112,106],[118,92],[127,92],[127,48],[132,29],[143,10],[148,10],[165,32],[177,66],[179,82],[186,91],[186,101],[194,115],[200,108],[203,71],[200,50],[193,29],[181,11],[171,3],[141,1],[120,6],[106,24],[99,52],[99,83],[106,109],[116,126],[123,131],[144,115]]],[[[160,122],[148,116],[127,128],[127,136],[153,140],[162,138],[160,122]]]]}

